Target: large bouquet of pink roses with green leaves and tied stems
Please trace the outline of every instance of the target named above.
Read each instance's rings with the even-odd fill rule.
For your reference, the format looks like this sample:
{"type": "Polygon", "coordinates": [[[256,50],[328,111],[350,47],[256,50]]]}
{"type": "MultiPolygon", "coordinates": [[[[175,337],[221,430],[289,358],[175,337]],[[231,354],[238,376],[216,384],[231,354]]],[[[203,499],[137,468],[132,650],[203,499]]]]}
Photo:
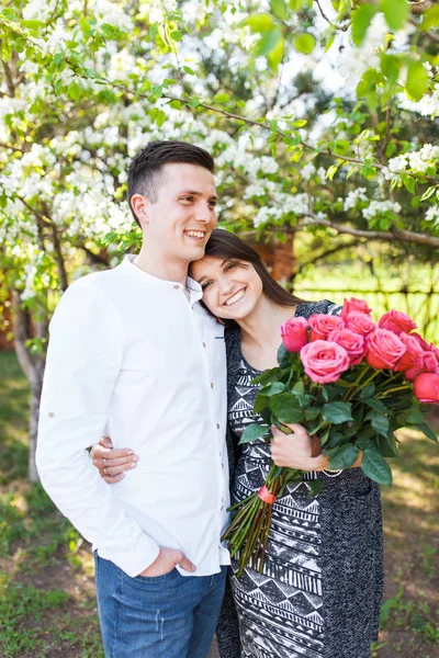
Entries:
{"type": "MultiPolygon", "coordinates": [[[[362,452],[361,468],[381,485],[392,484],[387,457],[396,456],[395,430],[415,427],[429,439],[423,404],[439,404],[439,350],[418,333],[404,313],[391,310],[378,325],[362,299],[345,299],[339,316],[291,318],[281,327],[279,366],[255,379],[262,387],[240,443],[270,441],[271,426],[302,423],[318,435],[330,469],[349,468],[362,452]]],[[[247,564],[262,569],[272,504],[303,472],[272,464],[259,491],[233,508],[223,540],[247,564]]],[[[322,486],[315,480],[314,492],[322,486]]]]}

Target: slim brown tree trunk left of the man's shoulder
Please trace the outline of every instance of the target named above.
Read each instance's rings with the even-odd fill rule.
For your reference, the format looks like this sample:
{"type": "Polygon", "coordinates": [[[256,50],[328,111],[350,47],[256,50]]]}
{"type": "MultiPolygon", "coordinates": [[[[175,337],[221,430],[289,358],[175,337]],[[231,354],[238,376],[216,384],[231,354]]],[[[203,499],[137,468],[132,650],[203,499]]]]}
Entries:
{"type": "Polygon", "coordinates": [[[27,310],[21,308],[19,293],[12,294],[14,347],[20,366],[31,386],[29,419],[29,478],[40,481],[35,465],[36,438],[40,418],[40,399],[46,359],[44,354],[31,354],[26,341],[32,338],[45,339],[48,336],[48,319],[32,321],[27,310]]]}

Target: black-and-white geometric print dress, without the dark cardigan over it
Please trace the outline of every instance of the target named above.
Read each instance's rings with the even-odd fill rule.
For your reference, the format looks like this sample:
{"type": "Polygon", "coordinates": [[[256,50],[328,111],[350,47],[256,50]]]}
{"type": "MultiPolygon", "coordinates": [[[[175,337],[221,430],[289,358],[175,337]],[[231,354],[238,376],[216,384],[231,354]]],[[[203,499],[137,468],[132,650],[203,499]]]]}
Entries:
{"type": "MultiPolygon", "coordinates": [[[[260,371],[243,358],[236,373],[228,423],[239,439],[252,415],[260,371]]],[[[270,445],[262,440],[243,445],[233,487],[233,504],[260,489],[269,473],[270,445]]],[[[329,475],[329,474],[328,474],[329,475]]],[[[304,476],[315,479],[315,473],[304,476]]],[[[304,479],[273,503],[262,574],[246,568],[237,578],[232,560],[232,589],[238,613],[241,658],[322,658],[322,574],[318,495],[309,496],[304,479]]]]}

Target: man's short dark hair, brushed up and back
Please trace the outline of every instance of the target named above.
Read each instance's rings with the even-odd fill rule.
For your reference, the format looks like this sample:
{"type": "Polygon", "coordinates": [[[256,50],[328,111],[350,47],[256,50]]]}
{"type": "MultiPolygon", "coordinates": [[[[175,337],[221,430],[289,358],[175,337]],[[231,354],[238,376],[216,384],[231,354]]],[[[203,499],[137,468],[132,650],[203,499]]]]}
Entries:
{"type": "Polygon", "coordinates": [[[133,194],[143,194],[151,203],[156,203],[164,166],[170,162],[198,164],[212,173],[215,168],[212,156],[193,144],[177,140],[147,144],[128,167],[128,204],[138,225],[140,225],[139,220],[131,204],[133,194]]]}

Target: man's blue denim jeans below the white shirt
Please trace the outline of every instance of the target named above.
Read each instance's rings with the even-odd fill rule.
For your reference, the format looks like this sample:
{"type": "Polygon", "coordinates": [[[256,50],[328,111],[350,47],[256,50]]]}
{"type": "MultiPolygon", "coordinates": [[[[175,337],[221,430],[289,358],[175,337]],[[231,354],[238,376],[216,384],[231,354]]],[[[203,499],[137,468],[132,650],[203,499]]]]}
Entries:
{"type": "Polygon", "coordinates": [[[131,578],[94,553],[105,658],[207,658],[227,568],[213,576],[177,569],[131,578]]]}

